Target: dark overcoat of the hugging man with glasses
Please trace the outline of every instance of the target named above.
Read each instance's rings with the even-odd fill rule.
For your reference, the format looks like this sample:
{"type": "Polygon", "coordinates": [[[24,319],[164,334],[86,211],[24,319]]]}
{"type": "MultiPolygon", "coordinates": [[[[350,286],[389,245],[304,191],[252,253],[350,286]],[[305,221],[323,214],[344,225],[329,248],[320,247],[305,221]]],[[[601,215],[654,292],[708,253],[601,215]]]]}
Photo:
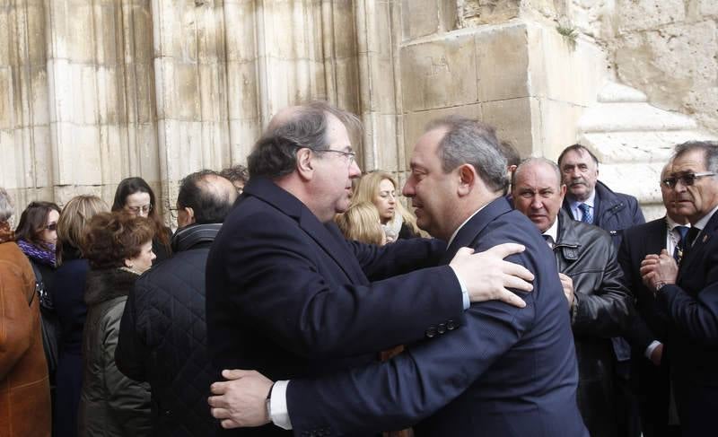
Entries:
{"type": "MultiPolygon", "coordinates": [[[[444,248],[425,239],[383,248],[347,242],[284,189],[252,179],[207,259],[217,378],[222,369],[314,377],[371,363],[378,351],[419,340],[440,323],[459,325],[464,311],[451,267],[398,275],[436,266],[444,248]]],[[[269,425],[233,433],[281,432],[269,425]]]]}

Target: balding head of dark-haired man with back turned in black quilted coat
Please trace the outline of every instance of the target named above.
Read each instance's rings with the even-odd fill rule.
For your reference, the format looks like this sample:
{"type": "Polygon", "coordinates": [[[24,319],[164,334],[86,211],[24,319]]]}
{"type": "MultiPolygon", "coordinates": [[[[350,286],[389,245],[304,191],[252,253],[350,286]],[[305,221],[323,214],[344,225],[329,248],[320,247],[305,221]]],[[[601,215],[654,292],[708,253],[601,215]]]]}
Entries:
{"type": "Polygon", "coordinates": [[[222,189],[212,179],[226,179],[213,170],[201,170],[189,174],[180,182],[180,194],[177,205],[180,208],[190,207],[195,212],[198,224],[223,223],[237,197],[232,183],[226,179],[227,188],[222,189]]]}

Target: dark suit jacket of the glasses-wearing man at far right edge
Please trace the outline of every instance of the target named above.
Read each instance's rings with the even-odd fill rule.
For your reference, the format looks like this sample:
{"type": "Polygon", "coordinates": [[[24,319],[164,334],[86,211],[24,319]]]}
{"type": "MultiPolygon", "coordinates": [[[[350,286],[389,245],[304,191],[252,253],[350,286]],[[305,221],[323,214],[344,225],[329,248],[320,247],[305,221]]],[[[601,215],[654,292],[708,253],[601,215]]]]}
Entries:
{"type": "Polygon", "coordinates": [[[671,322],[671,378],[681,430],[705,435],[718,412],[718,214],[687,249],[677,284],[657,295],[671,322]]]}

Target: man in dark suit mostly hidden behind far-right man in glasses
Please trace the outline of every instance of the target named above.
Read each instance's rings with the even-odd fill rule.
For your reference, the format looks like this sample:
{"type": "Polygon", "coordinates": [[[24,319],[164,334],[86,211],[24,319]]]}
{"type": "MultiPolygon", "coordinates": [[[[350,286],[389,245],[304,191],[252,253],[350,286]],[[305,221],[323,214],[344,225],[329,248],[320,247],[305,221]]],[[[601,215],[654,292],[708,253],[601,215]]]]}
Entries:
{"type": "MultiPolygon", "coordinates": [[[[661,171],[661,181],[669,177],[669,162],[661,171]]],[[[659,308],[654,294],[641,280],[641,262],[646,255],[659,254],[662,249],[679,262],[685,250],[690,224],[678,214],[673,188],[661,182],[661,196],[666,207],[665,217],[626,229],[618,249],[618,263],[624,272],[626,287],[635,298],[635,311],[626,328],[625,337],[631,345],[631,379],[641,415],[645,437],[679,435],[677,425],[670,425],[670,380],[664,345],[668,338],[669,321],[659,308]]]]}

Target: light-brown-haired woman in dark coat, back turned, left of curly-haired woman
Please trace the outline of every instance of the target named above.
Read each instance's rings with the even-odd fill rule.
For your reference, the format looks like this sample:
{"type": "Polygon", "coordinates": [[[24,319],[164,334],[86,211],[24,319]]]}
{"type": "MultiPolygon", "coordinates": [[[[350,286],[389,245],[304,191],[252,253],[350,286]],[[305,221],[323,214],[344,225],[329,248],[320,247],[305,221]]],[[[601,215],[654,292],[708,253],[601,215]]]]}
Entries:
{"type": "Polygon", "coordinates": [[[60,326],[60,357],[57,363],[55,437],[76,437],[77,408],[83,385],[83,327],[87,306],[83,300],[85,278],[90,269],[82,247],[92,216],[109,211],[97,196],[70,199],[57,220],[57,273],[51,293],[60,326]]]}

